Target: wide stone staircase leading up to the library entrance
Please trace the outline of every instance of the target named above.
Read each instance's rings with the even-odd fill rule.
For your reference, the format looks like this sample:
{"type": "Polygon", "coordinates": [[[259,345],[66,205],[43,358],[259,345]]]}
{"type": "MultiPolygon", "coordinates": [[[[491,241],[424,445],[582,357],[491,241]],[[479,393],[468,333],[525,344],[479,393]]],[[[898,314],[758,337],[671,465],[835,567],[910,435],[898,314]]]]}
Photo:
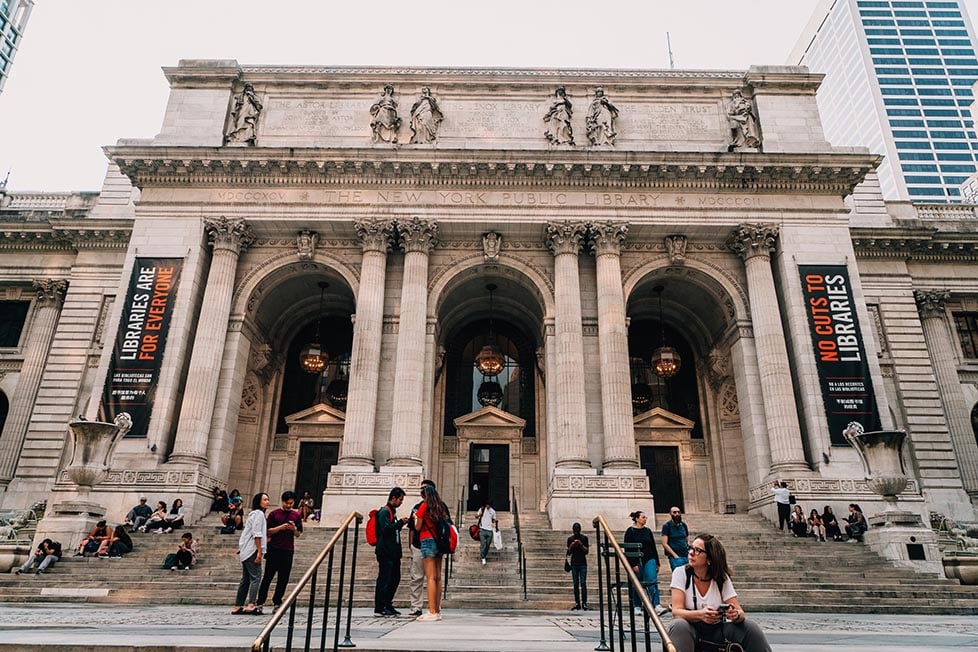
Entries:
{"type": "MultiPolygon", "coordinates": [[[[479,563],[479,543],[468,536],[475,514],[459,523],[460,544],[448,582],[446,609],[566,610],[573,604],[569,573],[563,571],[570,533],[552,532],[546,514],[521,514],[527,555],[527,600],[517,570],[516,536],[511,514],[499,515],[503,550],[492,550],[479,563]]],[[[661,517],[657,522],[661,523],[661,517]]],[[[692,515],[690,531],[711,532],[724,541],[733,578],[748,611],[978,614],[978,589],[952,580],[914,574],[881,559],[866,546],[818,543],[777,533],[766,521],[747,515],[692,515]]],[[[597,607],[597,549],[592,540],[588,597],[597,607]]],[[[0,576],[0,602],[64,602],[230,605],[240,577],[237,536],[221,535],[214,515],[193,528],[201,562],[191,571],[166,571],[163,558],[178,545],[179,533],[133,535],[136,550],[121,560],[66,557],[42,576],[0,576]]],[[[302,576],[332,531],[309,527],[297,545],[293,581],[302,576]]],[[[409,553],[396,604],[408,599],[409,553]]],[[[338,555],[337,555],[338,558],[338,555]]],[[[663,603],[669,603],[668,564],[660,569],[663,603]]],[[[334,578],[336,577],[334,569],[334,578]]],[[[322,575],[320,576],[322,578],[322,575]]],[[[370,606],[376,578],[374,550],[363,541],[358,550],[355,606],[370,606]]]]}

